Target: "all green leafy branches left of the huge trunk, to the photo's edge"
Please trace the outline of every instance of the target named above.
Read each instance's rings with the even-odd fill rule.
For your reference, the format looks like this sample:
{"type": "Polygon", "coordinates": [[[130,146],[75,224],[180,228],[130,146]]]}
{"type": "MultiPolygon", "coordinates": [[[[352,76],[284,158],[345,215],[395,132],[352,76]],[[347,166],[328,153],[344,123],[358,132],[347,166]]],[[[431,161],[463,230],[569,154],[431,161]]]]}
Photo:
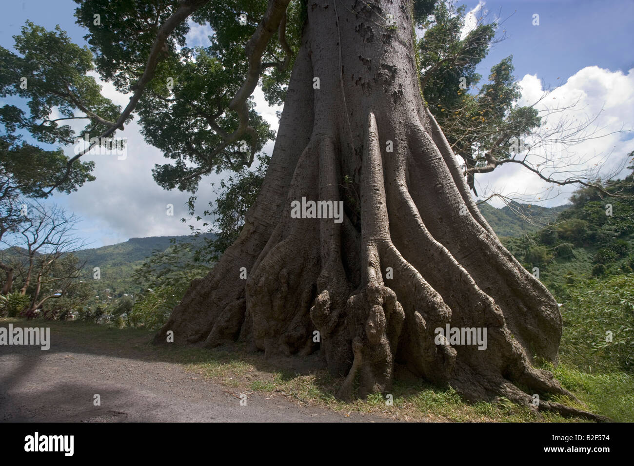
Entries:
{"type": "Polygon", "coordinates": [[[75,15],[89,30],[89,49],[70,42],[59,27],[49,32],[30,22],[15,37],[22,56],[0,48],[1,95],[29,100],[30,110],[27,115],[15,105],[1,109],[3,141],[10,150],[26,144],[20,130],[47,144],[72,145],[83,134],[98,138],[60,160],[65,167],[48,181],[44,195],[68,186],[70,179],[90,181],[92,165],[77,161],[123,129],[135,110],[148,142],[174,160],[155,169],[166,188],[195,191],[204,174],[249,167],[275,137],[253,110],[250,95],[261,82],[269,101],[283,100],[292,48],[299,46],[300,5],[287,8],[288,0],[77,3],[75,15]],[[245,24],[237,21],[242,11],[249,11],[245,24]],[[208,23],[214,31],[207,48],[184,47],[196,23],[208,23]],[[95,70],[122,93],[133,93],[126,108],[101,95],[91,75],[95,70]],[[26,84],[20,86],[23,78],[26,84]],[[59,118],[51,119],[53,109],[59,118]],[[87,124],[77,134],[68,122],[82,119],[87,124]]]}

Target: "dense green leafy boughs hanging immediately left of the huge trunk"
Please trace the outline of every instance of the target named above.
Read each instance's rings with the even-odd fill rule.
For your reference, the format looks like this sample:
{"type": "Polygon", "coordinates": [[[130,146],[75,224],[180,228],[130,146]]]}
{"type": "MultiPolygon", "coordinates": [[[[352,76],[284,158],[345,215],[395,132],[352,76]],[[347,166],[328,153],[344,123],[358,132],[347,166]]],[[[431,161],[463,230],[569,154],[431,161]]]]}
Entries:
{"type": "Polygon", "coordinates": [[[288,3],[162,1],[127,9],[122,1],[81,3],[76,15],[94,54],[113,56],[98,60],[98,70],[120,91],[134,91],[131,104],[138,101],[146,140],[174,160],[155,167],[159,184],[194,192],[205,174],[250,167],[275,137],[250,95],[261,81],[269,101],[283,99],[301,33],[299,6],[288,8],[287,18],[288,3]],[[95,24],[94,11],[104,11],[108,28],[95,24]],[[241,24],[243,11],[249,15],[241,24]],[[210,45],[185,48],[186,32],[197,24],[212,28],[210,45]]]}

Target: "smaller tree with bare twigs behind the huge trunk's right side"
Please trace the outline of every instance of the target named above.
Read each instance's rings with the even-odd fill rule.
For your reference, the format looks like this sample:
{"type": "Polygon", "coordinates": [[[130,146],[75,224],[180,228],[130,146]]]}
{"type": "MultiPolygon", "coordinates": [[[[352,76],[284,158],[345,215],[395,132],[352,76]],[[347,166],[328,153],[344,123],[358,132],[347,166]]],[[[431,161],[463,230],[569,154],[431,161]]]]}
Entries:
{"type": "MultiPolygon", "coordinates": [[[[584,141],[613,134],[597,126],[598,115],[578,121],[562,119],[566,111],[583,109],[578,103],[565,108],[546,106],[554,89],[530,105],[519,106],[521,93],[513,76],[512,56],[493,66],[488,82],[478,87],[481,75],[475,67],[488,55],[491,44],[504,36],[495,39],[497,20],[486,23],[484,13],[475,19],[475,27],[465,34],[465,7],[456,8],[453,1],[437,2],[422,23],[424,37],[418,42],[425,100],[451,148],[464,160],[469,188],[477,195],[477,174],[519,164],[554,186],[576,184],[618,196],[609,194],[598,176],[607,157],[580,153],[584,141]]],[[[618,174],[626,163],[624,160],[607,178],[618,174]]],[[[493,195],[510,200],[509,193],[493,195]]]]}

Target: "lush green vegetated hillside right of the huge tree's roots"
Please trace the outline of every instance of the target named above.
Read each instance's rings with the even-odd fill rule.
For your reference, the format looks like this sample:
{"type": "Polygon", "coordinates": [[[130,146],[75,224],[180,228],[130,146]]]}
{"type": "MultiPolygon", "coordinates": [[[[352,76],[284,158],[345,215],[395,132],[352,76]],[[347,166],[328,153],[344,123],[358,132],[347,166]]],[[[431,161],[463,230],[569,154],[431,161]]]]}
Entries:
{"type": "Polygon", "coordinates": [[[503,238],[561,303],[561,360],[588,373],[634,373],[633,179],[607,188],[619,197],[576,191],[550,226],[503,238]]]}

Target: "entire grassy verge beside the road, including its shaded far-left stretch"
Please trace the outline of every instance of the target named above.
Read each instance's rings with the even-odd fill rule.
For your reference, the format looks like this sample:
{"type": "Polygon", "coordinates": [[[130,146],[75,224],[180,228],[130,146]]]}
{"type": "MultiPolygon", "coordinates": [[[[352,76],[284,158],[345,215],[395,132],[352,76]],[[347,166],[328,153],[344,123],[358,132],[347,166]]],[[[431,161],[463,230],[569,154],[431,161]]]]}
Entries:
{"type": "MultiPolygon", "coordinates": [[[[300,405],[321,406],[346,414],[376,413],[399,420],[436,422],[574,422],[579,419],[535,413],[510,401],[466,403],[451,388],[441,389],[420,382],[396,382],[390,405],[385,396],[375,394],[366,401],[344,403],[335,398],[340,379],[324,369],[302,373],[280,369],[266,361],[261,353],[249,353],[236,344],[219,349],[198,347],[155,347],[148,344],[152,332],[138,328],[117,329],[82,322],[25,321],[0,319],[21,327],[51,327],[51,351],[56,342],[63,351],[111,354],[148,361],[179,363],[185,370],[198,373],[226,387],[233,394],[261,392],[266,396],[288,398],[300,405]]],[[[622,372],[579,372],[560,365],[557,378],[596,413],[622,422],[634,422],[634,378],[622,372]]]]}

